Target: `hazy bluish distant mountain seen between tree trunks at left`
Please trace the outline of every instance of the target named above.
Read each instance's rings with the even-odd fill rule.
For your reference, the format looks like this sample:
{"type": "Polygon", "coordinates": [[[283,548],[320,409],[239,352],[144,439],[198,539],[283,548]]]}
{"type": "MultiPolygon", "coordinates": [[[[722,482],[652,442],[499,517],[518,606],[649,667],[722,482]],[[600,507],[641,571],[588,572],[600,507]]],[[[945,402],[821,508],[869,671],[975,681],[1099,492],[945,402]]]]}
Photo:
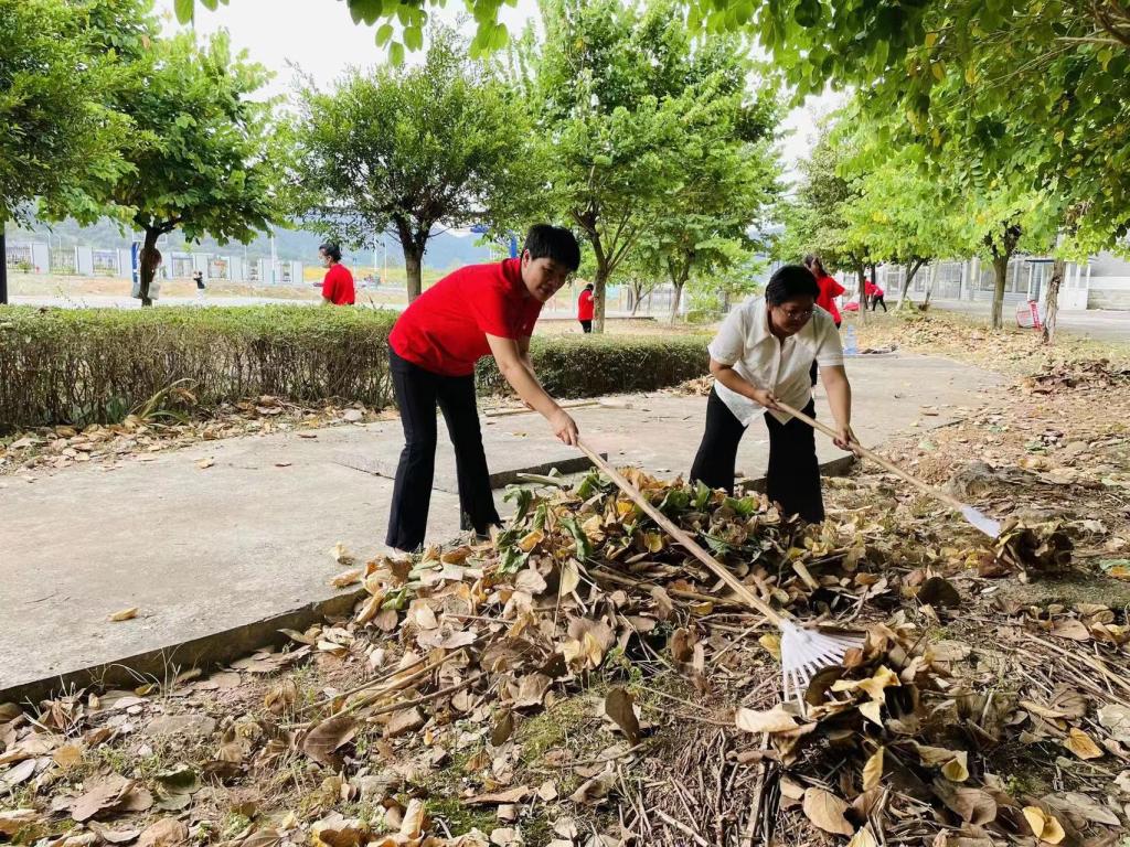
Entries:
{"type": "MultiPolygon", "coordinates": [[[[21,243],[29,241],[46,242],[63,246],[76,244],[89,245],[93,247],[111,248],[130,246],[133,241],[129,235],[122,235],[118,225],[111,220],[101,220],[94,226],[80,227],[73,220],[64,220],[60,224],[43,224],[36,221],[31,228],[19,228],[11,224],[7,228],[8,242],[21,243]]],[[[137,236],[140,239],[140,235],[137,236]]],[[[464,264],[476,262],[487,262],[490,260],[489,247],[479,245],[479,236],[464,235],[457,230],[438,232],[428,241],[427,252],[424,254],[424,267],[428,270],[445,271],[451,268],[460,268],[464,264]]],[[[402,268],[405,264],[403,253],[400,244],[391,235],[385,242],[389,248],[389,265],[402,268]]],[[[314,264],[318,262],[318,246],[322,243],[322,237],[316,233],[305,229],[279,229],[275,233],[275,250],[279,259],[305,262],[314,264]]],[[[218,253],[220,255],[243,255],[249,259],[268,259],[271,254],[271,242],[266,235],[261,235],[246,246],[232,243],[220,245],[214,238],[203,238],[199,244],[185,245],[184,236],[174,232],[158,242],[162,252],[192,252],[192,253],[218,253]]],[[[346,264],[372,267],[374,262],[383,261],[383,252],[377,248],[376,259],[372,251],[353,253],[342,251],[342,259],[346,264]]]]}

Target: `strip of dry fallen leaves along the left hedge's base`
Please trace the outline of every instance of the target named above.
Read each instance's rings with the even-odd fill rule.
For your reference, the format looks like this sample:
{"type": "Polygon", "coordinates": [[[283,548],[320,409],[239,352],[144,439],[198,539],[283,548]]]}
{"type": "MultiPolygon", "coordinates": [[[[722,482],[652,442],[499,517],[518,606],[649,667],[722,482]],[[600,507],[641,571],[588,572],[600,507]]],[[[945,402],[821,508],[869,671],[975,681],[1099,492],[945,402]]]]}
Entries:
{"type": "MultiPolygon", "coordinates": [[[[310,409],[263,395],[240,403],[224,403],[208,414],[193,414],[191,393],[184,408],[138,410],[121,424],[92,424],[87,427],[42,427],[0,438],[0,474],[19,474],[28,480],[35,473],[59,471],[95,462],[113,465],[128,457],[141,461],[167,449],[188,447],[199,442],[245,435],[320,429],[338,424],[381,420],[388,412],[376,412],[360,404],[327,403],[310,409]]],[[[311,435],[311,437],[315,437],[311,435]]]]}

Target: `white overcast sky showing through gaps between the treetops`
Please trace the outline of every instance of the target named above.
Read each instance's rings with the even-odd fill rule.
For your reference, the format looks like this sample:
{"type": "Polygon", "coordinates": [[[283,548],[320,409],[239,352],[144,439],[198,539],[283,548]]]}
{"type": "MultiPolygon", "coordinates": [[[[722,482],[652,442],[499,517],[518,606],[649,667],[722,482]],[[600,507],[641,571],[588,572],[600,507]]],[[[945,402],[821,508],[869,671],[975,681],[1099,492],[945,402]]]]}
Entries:
{"type": "MultiPolygon", "coordinates": [[[[173,0],[156,0],[164,26],[179,25],[173,15],[173,0]]],[[[447,3],[438,16],[454,23],[463,9],[460,0],[447,3]]],[[[501,19],[511,33],[520,32],[527,21],[537,18],[534,0],[518,0],[515,7],[504,6],[501,19]]],[[[245,49],[254,61],[276,73],[272,94],[290,90],[295,64],[310,73],[320,87],[329,86],[349,66],[371,66],[385,60],[385,51],[374,43],[375,27],[354,24],[345,0],[228,0],[216,11],[197,2],[197,32],[206,34],[226,28],[236,47],[245,49]]],[[[473,24],[469,26],[473,34],[473,24]]],[[[409,60],[411,61],[411,54],[409,60]]],[[[811,148],[815,119],[835,107],[836,95],[811,98],[805,108],[793,110],[784,121],[789,130],[781,142],[782,155],[791,169],[811,148]]]]}

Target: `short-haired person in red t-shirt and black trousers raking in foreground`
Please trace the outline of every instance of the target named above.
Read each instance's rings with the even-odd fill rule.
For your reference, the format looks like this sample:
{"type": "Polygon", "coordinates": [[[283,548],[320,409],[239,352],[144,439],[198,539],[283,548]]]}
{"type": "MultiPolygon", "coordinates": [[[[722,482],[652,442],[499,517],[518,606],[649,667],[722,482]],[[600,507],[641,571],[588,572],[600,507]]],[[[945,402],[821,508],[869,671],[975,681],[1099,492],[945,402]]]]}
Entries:
{"type": "Polygon", "coordinates": [[[415,551],[424,543],[435,471],[436,404],[455,448],[462,529],[485,535],[502,523],[490,492],[475,402],[475,364],[494,356],[518,396],[562,442],[575,445],[576,422],[533,373],[530,335],[541,306],[581,264],[568,229],[530,227],[521,257],[461,268],[409,304],[389,333],[389,367],[405,429],[385,543],[415,551]]]}

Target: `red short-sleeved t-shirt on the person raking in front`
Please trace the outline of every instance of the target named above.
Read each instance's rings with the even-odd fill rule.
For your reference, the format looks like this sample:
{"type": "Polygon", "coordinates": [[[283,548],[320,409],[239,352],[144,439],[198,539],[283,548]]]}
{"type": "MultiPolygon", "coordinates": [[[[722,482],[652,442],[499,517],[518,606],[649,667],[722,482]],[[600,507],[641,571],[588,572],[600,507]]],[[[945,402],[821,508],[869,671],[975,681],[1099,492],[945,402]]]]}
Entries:
{"type": "Polygon", "coordinates": [[[406,308],[389,344],[397,355],[443,376],[469,376],[490,352],[487,335],[533,334],[541,300],[522,282],[522,260],[471,264],[449,273],[406,308]]]}

